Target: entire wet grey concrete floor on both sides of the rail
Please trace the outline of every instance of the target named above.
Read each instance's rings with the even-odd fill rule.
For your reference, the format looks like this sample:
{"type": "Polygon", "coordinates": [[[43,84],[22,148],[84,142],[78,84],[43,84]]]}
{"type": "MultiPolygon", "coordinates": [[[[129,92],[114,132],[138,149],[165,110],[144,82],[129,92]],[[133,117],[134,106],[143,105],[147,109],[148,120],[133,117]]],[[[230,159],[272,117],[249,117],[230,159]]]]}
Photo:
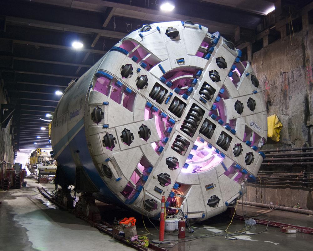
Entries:
{"type": "MultiPolygon", "coordinates": [[[[35,183],[33,178],[26,179],[27,188],[12,189],[7,192],[0,191],[0,250],[134,250],[115,239],[99,232],[97,229],[67,211],[62,211],[44,199],[36,189],[41,184],[35,183]]],[[[43,185],[48,190],[54,189],[53,184],[43,185]]],[[[275,212],[277,214],[279,212],[275,212]]],[[[274,215],[274,214],[273,214],[274,215]]],[[[104,220],[112,223],[113,218],[135,216],[138,234],[144,234],[141,215],[125,210],[110,210],[103,213],[104,220]]],[[[291,217],[291,216],[290,216],[291,217]]],[[[273,219],[274,220],[274,219],[273,219]]],[[[301,225],[301,219],[297,222],[301,225]]],[[[224,231],[230,222],[225,215],[213,217],[195,225],[204,229],[195,229],[193,234],[186,232],[187,236],[203,236],[209,233],[224,231]]],[[[158,232],[152,224],[145,219],[145,224],[152,235],[149,239],[157,239],[158,232]]],[[[157,222],[155,222],[157,224],[157,222]]],[[[312,226],[311,226],[312,227],[312,226]]],[[[243,222],[234,220],[230,232],[243,228],[243,222]]],[[[260,232],[265,226],[255,225],[249,233],[260,232]]],[[[161,245],[171,251],[193,250],[310,250],[313,245],[313,236],[308,234],[285,234],[278,228],[269,227],[267,232],[257,235],[237,236],[238,240],[227,240],[225,237],[199,238],[173,246],[177,240],[177,232],[166,234],[165,239],[173,240],[171,244],[161,245]]]]}

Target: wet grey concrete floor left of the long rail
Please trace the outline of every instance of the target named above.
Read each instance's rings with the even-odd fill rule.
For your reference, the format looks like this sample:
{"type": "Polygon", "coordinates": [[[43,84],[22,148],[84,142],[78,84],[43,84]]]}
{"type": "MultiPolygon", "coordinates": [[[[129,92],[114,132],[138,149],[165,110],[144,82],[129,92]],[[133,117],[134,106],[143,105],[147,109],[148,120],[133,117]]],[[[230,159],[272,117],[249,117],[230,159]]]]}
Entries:
{"type": "MultiPolygon", "coordinates": [[[[0,192],[1,251],[131,249],[73,214],[51,205],[36,189],[41,184],[30,178],[26,181],[27,188],[0,192]]],[[[53,190],[54,185],[44,187],[53,190]]]]}

